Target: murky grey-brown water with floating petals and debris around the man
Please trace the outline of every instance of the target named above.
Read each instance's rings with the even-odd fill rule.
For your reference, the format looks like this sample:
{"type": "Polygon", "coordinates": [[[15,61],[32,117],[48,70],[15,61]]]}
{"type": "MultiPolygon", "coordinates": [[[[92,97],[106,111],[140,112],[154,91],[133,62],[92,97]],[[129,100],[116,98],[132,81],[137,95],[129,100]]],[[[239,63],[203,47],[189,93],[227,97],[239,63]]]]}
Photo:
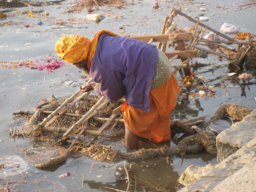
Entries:
{"type": "MultiPolygon", "coordinates": [[[[15,1],[17,2],[17,1],[15,1]]],[[[39,1],[38,1],[39,2],[39,1]]],[[[204,3],[206,8],[205,16],[209,21],[205,21],[212,28],[219,29],[224,22],[230,22],[240,28],[241,31],[255,33],[256,27],[252,25],[255,21],[255,8],[239,10],[241,1],[158,1],[160,9],[152,12],[153,1],[145,0],[134,1],[134,5],[126,5],[124,9],[100,8],[94,11],[105,15],[105,19],[96,24],[84,18],[85,11],[80,13],[64,13],[72,1],[63,1],[60,4],[50,4],[46,6],[22,6],[21,3],[11,1],[0,1],[0,12],[6,12],[7,18],[0,20],[0,23],[12,22],[11,25],[0,25],[0,61],[24,61],[35,60],[46,57],[49,53],[54,53],[54,44],[60,36],[68,34],[86,35],[93,37],[93,34],[105,28],[118,33],[119,35],[145,35],[158,34],[162,28],[164,16],[169,14],[173,5],[185,4],[183,11],[195,17],[201,13],[200,8],[204,3]],[[7,5],[6,5],[7,4],[7,5]],[[216,8],[223,5],[223,8],[216,8]],[[36,18],[28,17],[26,10],[33,11],[36,18]],[[16,12],[18,11],[18,12],[16,12]],[[49,16],[44,18],[44,12],[48,11],[49,16]],[[41,20],[43,25],[37,25],[41,20]],[[65,25],[56,25],[56,20],[67,22],[65,25]],[[29,28],[24,25],[29,24],[29,28]],[[124,29],[119,29],[124,27],[124,29]]],[[[193,23],[178,16],[175,18],[180,28],[189,28],[193,23]]],[[[235,102],[248,108],[256,108],[255,79],[251,83],[242,83],[237,78],[223,78],[223,83],[231,96],[228,100],[220,88],[220,80],[227,76],[227,61],[219,61],[215,56],[209,55],[207,59],[197,60],[201,63],[215,65],[215,67],[204,67],[194,71],[197,76],[204,76],[207,85],[216,86],[215,98],[188,98],[187,102],[178,101],[177,107],[172,113],[172,119],[184,120],[205,116],[212,113],[216,108],[224,103],[235,102]],[[215,79],[216,77],[220,79],[215,79]]],[[[193,60],[195,61],[195,60],[193,60]]],[[[20,110],[33,110],[38,101],[42,98],[50,99],[55,97],[68,97],[75,92],[77,87],[68,87],[62,82],[65,80],[79,80],[82,74],[75,67],[66,65],[61,69],[49,73],[45,70],[31,70],[29,68],[0,68],[0,106],[1,106],[1,133],[0,133],[0,154],[1,156],[19,155],[24,157],[20,151],[22,148],[33,148],[38,152],[45,148],[45,144],[40,144],[32,140],[22,138],[11,139],[9,128],[15,125],[19,127],[24,124],[26,119],[12,119],[12,112],[20,110]]],[[[181,81],[179,73],[176,77],[181,81]]],[[[191,89],[195,92],[195,89],[191,89]]],[[[221,120],[211,125],[216,130],[223,130],[230,126],[230,122],[221,120]]],[[[112,145],[125,151],[123,135],[112,141],[112,145]]],[[[165,143],[173,146],[173,143],[165,143]]],[[[158,145],[160,146],[160,145],[158,145]]],[[[150,143],[141,143],[140,147],[155,147],[150,143]]],[[[196,156],[171,156],[170,161],[166,158],[155,158],[141,162],[119,162],[116,164],[105,164],[96,162],[85,156],[75,156],[69,158],[66,164],[47,170],[38,170],[28,167],[26,172],[15,176],[21,180],[27,180],[26,184],[19,184],[15,189],[21,191],[100,191],[106,190],[104,187],[126,190],[125,181],[113,179],[116,171],[124,174],[124,170],[119,170],[122,165],[127,164],[129,175],[132,180],[131,188],[135,189],[135,176],[137,191],[142,191],[142,186],[149,190],[177,190],[177,179],[187,166],[194,164],[204,166],[207,163],[217,163],[216,158],[209,155],[196,156]],[[92,169],[91,169],[92,167],[92,169]],[[91,169],[91,170],[90,170],[91,169]],[[70,172],[69,177],[59,175],[70,172]],[[84,174],[84,188],[82,187],[82,176],[84,174]],[[100,176],[102,175],[102,177],[100,176]],[[97,177],[98,176],[98,177],[97,177]],[[22,179],[24,177],[24,179],[22,179]],[[153,185],[155,188],[149,188],[153,185]]],[[[15,179],[14,179],[15,180],[15,179]]],[[[17,180],[17,179],[16,179],[17,180]]],[[[4,183],[4,182],[3,182],[4,183]]],[[[179,186],[178,188],[180,188],[179,186]]]]}

